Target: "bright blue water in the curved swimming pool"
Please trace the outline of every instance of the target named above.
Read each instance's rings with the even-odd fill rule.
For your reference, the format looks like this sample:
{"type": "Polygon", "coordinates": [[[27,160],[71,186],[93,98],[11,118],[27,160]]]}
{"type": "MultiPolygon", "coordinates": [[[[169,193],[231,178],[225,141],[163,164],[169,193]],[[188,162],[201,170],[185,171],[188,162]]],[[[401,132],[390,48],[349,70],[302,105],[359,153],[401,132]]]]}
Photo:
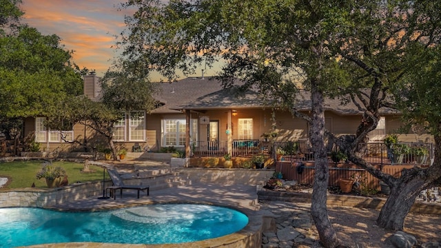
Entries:
{"type": "Polygon", "coordinates": [[[0,208],[0,247],[54,242],[172,244],[232,234],[248,223],[226,207],[146,205],[101,212],[0,208]]]}

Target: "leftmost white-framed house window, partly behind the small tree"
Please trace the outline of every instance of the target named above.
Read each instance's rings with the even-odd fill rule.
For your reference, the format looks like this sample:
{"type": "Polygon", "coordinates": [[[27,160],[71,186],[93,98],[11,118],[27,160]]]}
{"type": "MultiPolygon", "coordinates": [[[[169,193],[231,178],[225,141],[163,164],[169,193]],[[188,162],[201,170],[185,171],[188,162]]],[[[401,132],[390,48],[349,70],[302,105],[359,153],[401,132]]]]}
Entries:
{"type": "Polygon", "coordinates": [[[63,123],[63,130],[48,130],[45,127],[45,117],[35,118],[35,141],[37,142],[53,142],[60,143],[63,141],[73,141],[74,128],[72,123],[63,123]]]}

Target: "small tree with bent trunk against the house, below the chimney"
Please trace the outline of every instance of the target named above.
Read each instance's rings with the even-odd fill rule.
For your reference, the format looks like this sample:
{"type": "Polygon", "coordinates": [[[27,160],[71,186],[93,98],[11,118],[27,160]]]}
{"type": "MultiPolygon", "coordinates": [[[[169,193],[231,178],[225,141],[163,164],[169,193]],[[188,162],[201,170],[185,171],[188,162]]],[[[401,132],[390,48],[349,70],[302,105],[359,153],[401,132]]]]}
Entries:
{"type": "MultiPolygon", "coordinates": [[[[108,71],[101,80],[101,98],[92,101],[88,97],[67,96],[59,103],[63,111],[54,111],[48,115],[47,125],[55,130],[63,130],[64,123],[71,125],[84,125],[100,136],[103,136],[107,145],[112,149],[114,160],[117,159],[114,145],[114,125],[125,118],[126,112],[150,112],[154,109],[156,101],[155,85],[145,78],[138,78],[129,70],[108,71]]],[[[85,147],[96,149],[96,144],[84,141],[67,141],[85,147]]]]}

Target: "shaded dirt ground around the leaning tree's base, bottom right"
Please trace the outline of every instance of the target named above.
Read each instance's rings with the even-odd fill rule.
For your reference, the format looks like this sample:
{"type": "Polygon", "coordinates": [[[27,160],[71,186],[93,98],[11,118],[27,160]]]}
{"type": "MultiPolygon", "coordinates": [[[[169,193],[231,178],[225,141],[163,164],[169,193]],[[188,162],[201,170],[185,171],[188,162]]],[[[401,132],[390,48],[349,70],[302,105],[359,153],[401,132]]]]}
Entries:
{"type": "MultiPolygon", "coordinates": [[[[342,245],[346,247],[393,247],[386,240],[394,232],[384,231],[376,225],[380,211],[355,207],[329,207],[329,218],[342,245]]],[[[418,240],[441,244],[441,216],[408,214],[404,231],[418,240]]],[[[438,247],[438,246],[436,246],[438,247]]]]}

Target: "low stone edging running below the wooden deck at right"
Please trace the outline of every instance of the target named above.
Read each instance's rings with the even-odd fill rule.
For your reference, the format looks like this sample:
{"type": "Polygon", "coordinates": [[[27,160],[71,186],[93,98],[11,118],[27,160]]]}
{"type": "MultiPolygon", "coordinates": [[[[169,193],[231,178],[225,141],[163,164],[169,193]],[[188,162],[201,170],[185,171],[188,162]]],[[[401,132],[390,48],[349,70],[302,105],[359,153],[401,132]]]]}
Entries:
{"type": "MultiPolygon", "coordinates": [[[[268,189],[259,189],[259,200],[280,200],[296,203],[311,203],[311,194],[302,192],[279,192],[268,189]]],[[[342,207],[358,207],[368,209],[381,209],[386,202],[386,198],[350,196],[350,195],[327,195],[327,205],[342,207]]],[[[412,213],[418,214],[436,214],[441,215],[441,205],[437,203],[413,203],[412,213]]]]}

